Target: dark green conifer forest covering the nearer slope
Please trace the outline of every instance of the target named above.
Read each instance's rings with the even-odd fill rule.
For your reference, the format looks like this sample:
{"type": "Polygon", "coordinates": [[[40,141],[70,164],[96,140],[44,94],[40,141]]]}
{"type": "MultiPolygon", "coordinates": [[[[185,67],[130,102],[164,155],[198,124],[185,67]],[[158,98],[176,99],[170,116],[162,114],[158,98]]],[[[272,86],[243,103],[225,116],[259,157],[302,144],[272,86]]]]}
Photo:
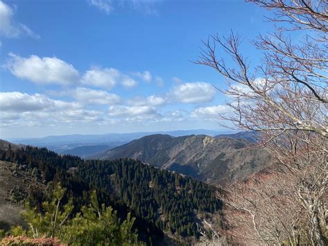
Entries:
{"type": "Polygon", "coordinates": [[[204,216],[220,216],[216,188],[140,161],[84,161],[30,146],[9,146],[0,150],[0,159],[7,161],[11,172],[19,177],[21,170],[30,174],[25,176],[22,186],[27,177],[39,184],[39,188],[29,186],[21,191],[31,204],[39,207],[58,183],[67,189],[66,200],[73,197],[75,208],[85,205],[95,190],[100,201],[116,209],[122,220],[131,212],[136,217],[134,226],[139,239],[149,244],[167,243],[163,231],[174,240],[190,243],[199,237],[204,216]]]}

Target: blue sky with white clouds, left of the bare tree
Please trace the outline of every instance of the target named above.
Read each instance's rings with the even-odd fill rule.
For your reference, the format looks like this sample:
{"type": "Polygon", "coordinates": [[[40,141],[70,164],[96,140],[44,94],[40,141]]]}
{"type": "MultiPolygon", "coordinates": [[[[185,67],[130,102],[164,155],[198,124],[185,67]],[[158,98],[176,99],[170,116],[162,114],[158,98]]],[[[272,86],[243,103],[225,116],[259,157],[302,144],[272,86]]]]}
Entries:
{"type": "Polygon", "coordinates": [[[242,0],[0,0],[0,138],[221,130],[226,80],[192,61],[233,30],[258,64],[267,14],[242,0]]]}

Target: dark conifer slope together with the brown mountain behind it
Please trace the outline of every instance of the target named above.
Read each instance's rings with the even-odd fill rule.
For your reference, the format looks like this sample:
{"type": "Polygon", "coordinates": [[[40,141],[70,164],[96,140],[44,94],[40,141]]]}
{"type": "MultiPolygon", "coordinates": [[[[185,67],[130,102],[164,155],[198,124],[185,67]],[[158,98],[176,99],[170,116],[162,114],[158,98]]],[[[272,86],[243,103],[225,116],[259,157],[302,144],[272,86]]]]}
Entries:
{"type": "Polygon", "coordinates": [[[60,182],[78,206],[94,189],[122,220],[131,211],[138,238],[149,245],[194,245],[198,227],[206,230],[203,220],[221,225],[215,186],[246,179],[271,163],[257,140],[254,132],[152,134],[114,148],[71,150],[89,156],[84,159],[0,141],[0,229],[24,225],[18,216],[22,201],[39,206],[49,187],[60,182]]]}

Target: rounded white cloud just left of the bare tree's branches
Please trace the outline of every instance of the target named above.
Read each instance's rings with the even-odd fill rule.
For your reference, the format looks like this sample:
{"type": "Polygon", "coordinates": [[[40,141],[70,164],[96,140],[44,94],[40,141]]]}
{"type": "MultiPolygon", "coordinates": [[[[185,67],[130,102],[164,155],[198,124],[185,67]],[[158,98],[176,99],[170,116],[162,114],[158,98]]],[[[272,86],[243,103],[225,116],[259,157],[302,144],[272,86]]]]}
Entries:
{"type": "Polygon", "coordinates": [[[207,103],[215,94],[215,88],[206,82],[189,82],[176,85],[169,96],[180,103],[207,103]]]}

